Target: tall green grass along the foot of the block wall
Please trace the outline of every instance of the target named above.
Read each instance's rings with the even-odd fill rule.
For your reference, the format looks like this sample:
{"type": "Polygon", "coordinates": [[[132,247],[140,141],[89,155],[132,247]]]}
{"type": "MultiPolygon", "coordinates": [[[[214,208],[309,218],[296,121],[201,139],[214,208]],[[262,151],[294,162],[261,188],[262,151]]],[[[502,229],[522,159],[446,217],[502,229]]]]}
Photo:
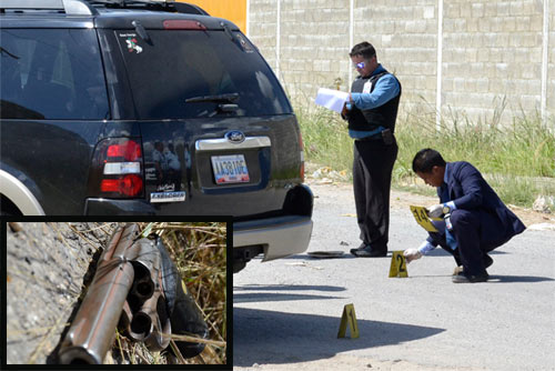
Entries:
{"type": "MultiPolygon", "coordinates": [[[[400,114],[395,128],[400,150],[392,187],[434,195],[435,190],[412,171],[414,154],[433,148],[446,161],[473,163],[505,203],[532,208],[538,197],[555,197],[555,120],[546,127],[538,116],[522,116],[502,126],[503,109],[502,102],[488,122],[473,122],[451,112],[438,128],[435,112],[400,114]]],[[[346,122],[313,103],[297,104],[295,113],[306,161],[346,171],[351,178],[353,143],[346,122]]]]}

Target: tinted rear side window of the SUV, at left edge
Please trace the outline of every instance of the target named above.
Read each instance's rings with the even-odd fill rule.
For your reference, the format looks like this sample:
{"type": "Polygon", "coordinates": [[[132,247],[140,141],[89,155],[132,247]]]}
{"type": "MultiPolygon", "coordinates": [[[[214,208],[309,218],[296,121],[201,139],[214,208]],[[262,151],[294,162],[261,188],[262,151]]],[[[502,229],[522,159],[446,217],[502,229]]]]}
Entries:
{"type": "Polygon", "coordinates": [[[2,119],[105,119],[105,79],[94,30],[3,29],[2,119]]]}

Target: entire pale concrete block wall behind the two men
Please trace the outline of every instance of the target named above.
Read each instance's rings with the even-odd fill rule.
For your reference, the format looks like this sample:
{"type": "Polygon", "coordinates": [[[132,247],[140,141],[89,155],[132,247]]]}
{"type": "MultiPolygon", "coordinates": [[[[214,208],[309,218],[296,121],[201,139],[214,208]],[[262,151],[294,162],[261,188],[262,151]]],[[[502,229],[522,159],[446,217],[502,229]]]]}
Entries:
{"type": "Polygon", "coordinates": [[[249,0],[248,33],[296,104],[349,90],[367,40],[403,84],[401,114],[555,119],[555,0],[249,0]]]}

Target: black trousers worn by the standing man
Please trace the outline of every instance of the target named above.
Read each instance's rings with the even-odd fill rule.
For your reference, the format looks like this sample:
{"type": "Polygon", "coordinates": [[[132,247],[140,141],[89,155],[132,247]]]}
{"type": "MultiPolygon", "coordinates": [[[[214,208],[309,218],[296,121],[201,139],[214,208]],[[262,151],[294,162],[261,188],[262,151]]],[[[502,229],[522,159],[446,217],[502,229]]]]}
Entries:
{"type": "Polygon", "coordinates": [[[353,190],[361,240],[375,251],[387,251],[390,233],[390,191],[393,164],[397,159],[395,140],[354,141],[353,190]]]}

